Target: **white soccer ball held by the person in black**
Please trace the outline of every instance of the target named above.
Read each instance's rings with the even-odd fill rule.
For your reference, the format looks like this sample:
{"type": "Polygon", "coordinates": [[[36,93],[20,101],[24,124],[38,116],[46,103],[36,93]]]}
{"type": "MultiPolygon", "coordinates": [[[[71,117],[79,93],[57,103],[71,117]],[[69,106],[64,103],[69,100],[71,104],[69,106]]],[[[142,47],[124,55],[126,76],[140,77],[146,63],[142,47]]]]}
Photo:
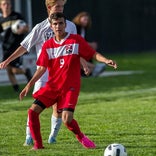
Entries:
{"type": "Polygon", "coordinates": [[[15,23],[11,25],[11,30],[14,34],[17,34],[18,29],[26,26],[26,22],[23,20],[17,20],[15,23]]]}

